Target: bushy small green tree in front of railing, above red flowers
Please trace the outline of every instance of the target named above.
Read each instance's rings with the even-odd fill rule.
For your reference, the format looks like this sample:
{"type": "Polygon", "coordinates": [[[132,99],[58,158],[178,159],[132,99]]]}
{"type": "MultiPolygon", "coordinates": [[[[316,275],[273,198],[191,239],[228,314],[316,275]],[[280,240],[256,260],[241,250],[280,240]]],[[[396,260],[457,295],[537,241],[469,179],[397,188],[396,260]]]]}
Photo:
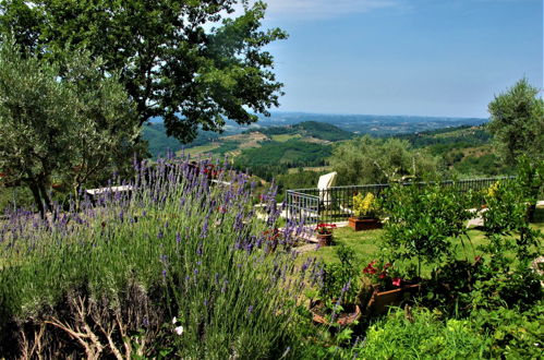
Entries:
{"type": "Polygon", "coordinates": [[[464,221],[470,197],[459,193],[454,185],[416,183],[395,184],[383,200],[389,214],[385,226],[385,241],[392,259],[418,260],[421,263],[439,262],[451,255],[451,237],[466,235],[464,221]]]}

